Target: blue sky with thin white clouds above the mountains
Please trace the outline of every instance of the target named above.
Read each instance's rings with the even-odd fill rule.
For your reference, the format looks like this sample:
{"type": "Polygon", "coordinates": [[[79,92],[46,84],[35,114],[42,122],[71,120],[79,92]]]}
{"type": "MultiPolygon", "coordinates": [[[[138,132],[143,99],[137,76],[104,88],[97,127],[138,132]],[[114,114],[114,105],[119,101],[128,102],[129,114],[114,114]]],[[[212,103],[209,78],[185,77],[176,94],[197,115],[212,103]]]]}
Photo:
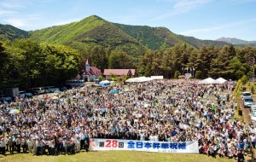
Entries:
{"type": "Polygon", "coordinates": [[[256,0],[0,0],[0,24],[31,31],[82,20],[165,26],[201,39],[256,40],[256,0]]]}

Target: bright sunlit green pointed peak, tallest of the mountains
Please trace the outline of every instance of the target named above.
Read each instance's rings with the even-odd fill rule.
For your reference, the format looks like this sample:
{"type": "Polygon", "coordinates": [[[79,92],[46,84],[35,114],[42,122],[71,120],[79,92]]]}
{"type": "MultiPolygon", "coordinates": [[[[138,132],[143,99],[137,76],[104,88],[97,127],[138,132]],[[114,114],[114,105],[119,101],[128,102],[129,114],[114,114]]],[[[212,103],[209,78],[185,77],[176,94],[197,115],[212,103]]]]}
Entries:
{"type": "Polygon", "coordinates": [[[52,26],[29,32],[30,38],[40,43],[66,44],[74,49],[102,46],[109,49],[123,49],[131,55],[142,55],[146,47],[131,38],[113,23],[92,15],[63,26],[52,26]]]}

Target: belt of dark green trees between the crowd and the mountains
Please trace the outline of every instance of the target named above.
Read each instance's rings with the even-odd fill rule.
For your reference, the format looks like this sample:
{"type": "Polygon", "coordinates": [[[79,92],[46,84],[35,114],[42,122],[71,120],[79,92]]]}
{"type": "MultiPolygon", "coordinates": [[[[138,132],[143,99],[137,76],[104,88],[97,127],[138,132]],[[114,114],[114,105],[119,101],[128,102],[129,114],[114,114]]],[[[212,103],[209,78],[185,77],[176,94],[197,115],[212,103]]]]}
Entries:
{"type": "Polygon", "coordinates": [[[37,43],[30,39],[0,42],[0,88],[64,84],[84,68],[86,59],[100,68],[136,68],[140,75],[176,77],[179,72],[200,72],[200,78],[236,80],[253,76],[256,48],[233,45],[195,49],[186,44],[172,48],[147,50],[136,57],[122,49],[84,47],[79,50],[64,45],[37,43]]]}

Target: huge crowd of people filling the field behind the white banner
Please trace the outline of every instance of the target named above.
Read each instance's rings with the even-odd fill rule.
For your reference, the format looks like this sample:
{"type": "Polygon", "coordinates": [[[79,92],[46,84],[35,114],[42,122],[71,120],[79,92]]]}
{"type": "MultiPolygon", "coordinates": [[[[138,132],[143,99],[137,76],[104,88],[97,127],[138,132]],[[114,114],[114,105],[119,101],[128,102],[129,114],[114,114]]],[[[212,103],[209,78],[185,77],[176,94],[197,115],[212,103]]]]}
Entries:
{"type": "Polygon", "coordinates": [[[253,124],[234,119],[234,87],[154,80],[16,98],[0,105],[0,151],[73,154],[88,151],[90,138],[198,141],[199,153],[241,160],[256,136],[253,124]]]}

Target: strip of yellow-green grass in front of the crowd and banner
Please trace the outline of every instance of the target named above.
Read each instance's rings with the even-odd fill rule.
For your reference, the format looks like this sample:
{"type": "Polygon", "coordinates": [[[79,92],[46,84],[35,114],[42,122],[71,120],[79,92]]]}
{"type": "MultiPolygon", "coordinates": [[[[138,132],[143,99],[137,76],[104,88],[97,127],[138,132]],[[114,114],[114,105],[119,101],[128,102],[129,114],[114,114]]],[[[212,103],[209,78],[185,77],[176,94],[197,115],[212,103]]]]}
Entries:
{"type": "Polygon", "coordinates": [[[101,152],[82,152],[75,155],[59,155],[59,156],[32,156],[32,153],[16,153],[14,155],[3,156],[0,155],[0,161],[9,162],[71,162],[71,161],[86,161],[86,162],[164,162],[164,161],[178,161],[178,162],[234,162],[235,159],[212,158],[202,154],[186,154],[186,153],[145,153],[135,151],[101,151],[101,152]]]}

